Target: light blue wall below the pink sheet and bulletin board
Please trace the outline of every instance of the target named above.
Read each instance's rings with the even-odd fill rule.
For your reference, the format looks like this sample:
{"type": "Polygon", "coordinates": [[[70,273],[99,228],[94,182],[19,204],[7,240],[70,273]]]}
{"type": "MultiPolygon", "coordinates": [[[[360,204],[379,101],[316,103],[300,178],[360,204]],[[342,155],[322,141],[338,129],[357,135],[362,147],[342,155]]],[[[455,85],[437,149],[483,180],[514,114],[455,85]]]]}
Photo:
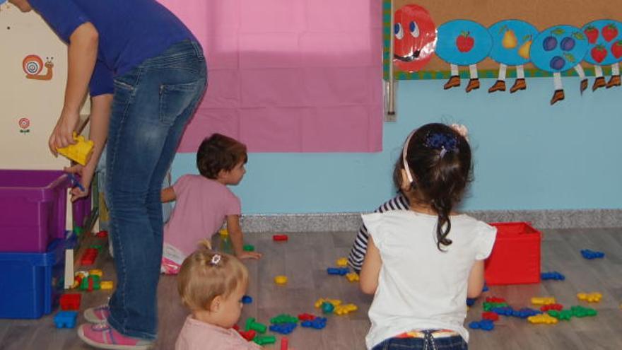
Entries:
{"type": "MultiPolygon", "coordinates": [[[[593,78],[590,78],[590,86],[593,78]]],[[[563,78],[565,100],[549,105],[552,78],[528,78],[527,91],[443,91],[445,81],[400,81],[397,122],[385,123],[380,153],[251,153],[233,191],[245,214],[370,211],[392,197],[392,167],[411,129],[459,122],[470,131],[475,180],[463,209],[622,208],[622,88],[587,90],[563,78]]],[[[512,85],[508,79],[507,87],[512,85]]],[[[179,153],[176,179],[196,173],[179,153]]]]}

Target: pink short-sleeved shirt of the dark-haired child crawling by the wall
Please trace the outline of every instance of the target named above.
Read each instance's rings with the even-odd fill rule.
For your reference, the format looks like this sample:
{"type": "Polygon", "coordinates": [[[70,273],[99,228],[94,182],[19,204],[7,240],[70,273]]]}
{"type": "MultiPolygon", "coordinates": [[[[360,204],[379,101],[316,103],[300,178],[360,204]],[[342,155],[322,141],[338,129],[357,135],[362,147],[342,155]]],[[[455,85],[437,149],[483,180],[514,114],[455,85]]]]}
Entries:
{"type": "Polygon", "coordinates": [[[164,226],[164,243],[190,255],[211,238],[225,216],[240,215],[240,199],[227,186],[201,175],[183,175],[175,185],[175,209],[164,226]]]}

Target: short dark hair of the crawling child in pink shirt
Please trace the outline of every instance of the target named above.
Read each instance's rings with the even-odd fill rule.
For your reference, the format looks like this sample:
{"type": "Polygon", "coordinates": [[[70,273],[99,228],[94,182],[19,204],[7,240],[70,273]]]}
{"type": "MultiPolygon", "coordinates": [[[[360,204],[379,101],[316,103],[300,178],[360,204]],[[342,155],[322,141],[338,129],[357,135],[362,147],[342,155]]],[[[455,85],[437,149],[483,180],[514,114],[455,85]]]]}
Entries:
{"type": "Polygon", "coordinates": [[[235,165],[247,161],[245,144],[221,134],[204,139],[196,152],[196,168],[209,179],[216,179],[221,170],[232,170],[235,165]]]}

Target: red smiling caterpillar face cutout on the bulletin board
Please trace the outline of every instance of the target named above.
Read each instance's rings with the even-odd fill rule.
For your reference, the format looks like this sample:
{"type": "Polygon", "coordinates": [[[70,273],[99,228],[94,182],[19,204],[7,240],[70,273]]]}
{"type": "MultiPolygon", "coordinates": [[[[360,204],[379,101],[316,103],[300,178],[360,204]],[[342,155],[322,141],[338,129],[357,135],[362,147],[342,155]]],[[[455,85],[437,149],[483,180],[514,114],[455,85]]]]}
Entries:
{"type": "Polygon", "coordinates": [[[401,71],[418,71],[432,58],[436,49],[436,25],[428,11],[406,5],[394,15],[393,62],[401,71]]]}

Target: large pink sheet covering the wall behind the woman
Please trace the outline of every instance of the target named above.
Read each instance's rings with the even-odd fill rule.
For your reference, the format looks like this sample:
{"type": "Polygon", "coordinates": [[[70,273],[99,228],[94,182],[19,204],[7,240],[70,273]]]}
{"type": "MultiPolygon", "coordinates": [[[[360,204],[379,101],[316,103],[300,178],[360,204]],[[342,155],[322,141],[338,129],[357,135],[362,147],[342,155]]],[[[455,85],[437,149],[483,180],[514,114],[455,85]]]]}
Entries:
{"type": "Polygon", "coordinates": [[[160,0],[203,45],[209,87],[178,151],[382,150],[380,0],[160,0]]]}

